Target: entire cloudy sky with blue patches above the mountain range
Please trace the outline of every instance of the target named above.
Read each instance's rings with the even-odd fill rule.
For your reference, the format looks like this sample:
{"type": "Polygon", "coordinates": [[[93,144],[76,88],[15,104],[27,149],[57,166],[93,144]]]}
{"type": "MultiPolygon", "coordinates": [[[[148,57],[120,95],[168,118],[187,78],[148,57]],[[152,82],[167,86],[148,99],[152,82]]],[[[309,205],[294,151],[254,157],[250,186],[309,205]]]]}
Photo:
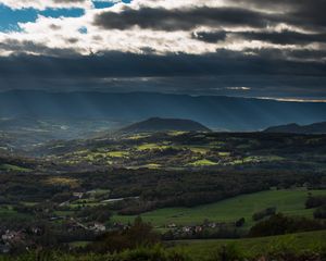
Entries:
{"type": "Polygon", "coordinates": [[[0,0],[0,90],[326,101],[325,0],[0,0]]]}

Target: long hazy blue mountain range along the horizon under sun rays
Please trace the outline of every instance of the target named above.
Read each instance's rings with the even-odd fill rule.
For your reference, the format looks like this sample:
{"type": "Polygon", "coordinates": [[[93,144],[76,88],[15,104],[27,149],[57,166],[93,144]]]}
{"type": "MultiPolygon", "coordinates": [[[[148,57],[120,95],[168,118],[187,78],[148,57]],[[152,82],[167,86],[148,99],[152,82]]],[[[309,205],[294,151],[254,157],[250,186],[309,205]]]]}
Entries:
{"type": "Polygon", "coordinates": [[[51,120],[73,125],[77,121],[105,121],[118,122],[120,126],[150,117],[189,119],[214,130],[241,132],[289,122],[323,122],[326,103],[150,92],[14,90],[0,92],[1,117],[51,120]]]}

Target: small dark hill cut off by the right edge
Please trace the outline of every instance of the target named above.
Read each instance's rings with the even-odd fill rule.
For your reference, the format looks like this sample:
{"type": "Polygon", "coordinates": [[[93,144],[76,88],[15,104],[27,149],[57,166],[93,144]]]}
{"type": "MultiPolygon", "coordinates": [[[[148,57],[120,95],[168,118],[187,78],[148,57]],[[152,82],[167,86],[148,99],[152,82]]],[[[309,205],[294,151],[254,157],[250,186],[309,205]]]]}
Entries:
{"type": "Polygon", "coordinates": [[[293,134],[326,134],[326,122],[310,125],[299,125],[296,123],[268,127],[265,133],[293,133],[293,134]]]}

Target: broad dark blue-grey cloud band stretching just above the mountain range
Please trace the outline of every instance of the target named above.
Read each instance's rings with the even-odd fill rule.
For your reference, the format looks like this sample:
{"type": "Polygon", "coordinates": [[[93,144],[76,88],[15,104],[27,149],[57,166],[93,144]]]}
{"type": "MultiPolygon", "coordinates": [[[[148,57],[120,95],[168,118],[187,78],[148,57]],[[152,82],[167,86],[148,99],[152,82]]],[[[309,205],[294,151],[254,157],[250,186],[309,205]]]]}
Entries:
{"type": "Polygon", "coordinates": [[[0,59],[0,86],[1,90],[100,89],[325,98],[325,71],[326,64],[286,61],[274,50],[253,57],[226,50],[203,55],[110,52],[53,58],[21,54],[0,59]]]}

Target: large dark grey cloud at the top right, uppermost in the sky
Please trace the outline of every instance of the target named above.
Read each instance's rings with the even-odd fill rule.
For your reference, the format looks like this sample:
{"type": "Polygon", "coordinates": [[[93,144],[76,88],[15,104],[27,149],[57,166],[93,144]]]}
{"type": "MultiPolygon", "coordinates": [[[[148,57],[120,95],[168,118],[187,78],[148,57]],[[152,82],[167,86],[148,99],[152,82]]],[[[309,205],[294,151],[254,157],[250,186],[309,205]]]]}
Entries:
{"type": "Polygon", "coordinates": [[[127,29],[133,26],[155,30],[190,30],[198,26],[251,26],[265,28],[267,25],[287,23],[309,29],[321,30],[326,26],[325,0],[243,0],[237,8],[162,9],[125,7],[120,13],[106,11],[95,18],[95,24],[106,28],[127,29]],[[239,8],[238,8],[239,7],[239,8]],[[275,11],[273,14],[263,10],[275,11]]]}

